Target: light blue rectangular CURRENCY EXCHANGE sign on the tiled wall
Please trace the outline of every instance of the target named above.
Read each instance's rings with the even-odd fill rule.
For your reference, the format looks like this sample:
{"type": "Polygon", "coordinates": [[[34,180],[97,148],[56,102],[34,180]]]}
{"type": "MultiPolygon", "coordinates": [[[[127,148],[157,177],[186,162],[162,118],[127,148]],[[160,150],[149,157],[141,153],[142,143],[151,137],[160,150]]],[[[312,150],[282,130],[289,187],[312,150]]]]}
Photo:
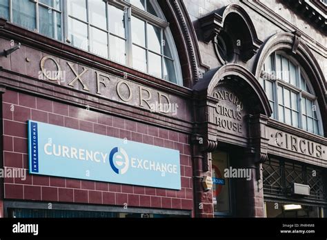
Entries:
{"type": "Polygon", "coordinates": [[[179,151],[28,121],[31,174],[181,189],[179,151]]]}

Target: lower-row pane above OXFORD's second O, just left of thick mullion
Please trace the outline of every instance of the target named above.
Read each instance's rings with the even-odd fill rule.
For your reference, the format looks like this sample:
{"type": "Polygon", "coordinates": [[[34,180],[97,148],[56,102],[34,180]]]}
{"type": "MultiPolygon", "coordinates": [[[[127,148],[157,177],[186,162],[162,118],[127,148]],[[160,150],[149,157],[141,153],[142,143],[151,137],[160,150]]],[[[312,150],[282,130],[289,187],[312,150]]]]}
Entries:
{"type": "Polygon", "coordinates": [[[110,59],[126,64],[126,41],[110,35],[110,59]]]}

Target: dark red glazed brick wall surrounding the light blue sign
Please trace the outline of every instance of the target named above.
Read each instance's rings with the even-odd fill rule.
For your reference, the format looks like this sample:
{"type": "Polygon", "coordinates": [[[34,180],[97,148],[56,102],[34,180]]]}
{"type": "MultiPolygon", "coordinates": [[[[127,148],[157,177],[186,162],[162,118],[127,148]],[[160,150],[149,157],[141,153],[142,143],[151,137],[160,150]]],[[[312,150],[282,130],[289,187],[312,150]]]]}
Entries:
{"type": "Polygon", "coordinates": [[[27,178],[4,179],[4,198],[191,210],[192,166],[188,143],[186,134],[7,90],[3,94],[3,166],[23,168],[27,178]],[[181,159],[181,190],[28,174],[28,119],[177,149],[181,159]]]}

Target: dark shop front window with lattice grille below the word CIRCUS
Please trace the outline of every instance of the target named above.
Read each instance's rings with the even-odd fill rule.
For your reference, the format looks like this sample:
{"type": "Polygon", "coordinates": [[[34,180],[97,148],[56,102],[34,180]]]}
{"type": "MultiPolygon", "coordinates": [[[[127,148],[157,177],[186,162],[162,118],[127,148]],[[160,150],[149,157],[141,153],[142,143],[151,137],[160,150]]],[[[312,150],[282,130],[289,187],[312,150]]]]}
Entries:
{"type": "Polygon", "coordinates": [[[263,165],[266,217],[324,217],[327,206],[323,168],[268,159],[263,165]],[[301,187],[301,193],[295,191],[301,187]]]}

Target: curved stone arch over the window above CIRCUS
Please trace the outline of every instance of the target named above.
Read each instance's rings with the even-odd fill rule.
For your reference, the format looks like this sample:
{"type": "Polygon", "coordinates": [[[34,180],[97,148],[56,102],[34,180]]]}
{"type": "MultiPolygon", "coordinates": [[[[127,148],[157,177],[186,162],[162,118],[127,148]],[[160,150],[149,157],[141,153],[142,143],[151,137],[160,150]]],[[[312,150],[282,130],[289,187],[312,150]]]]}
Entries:
{"type": "Polygon", "coordinates": [[[327,83],[324,74],[317,62],[317,59],[310,51],[306,43],[301,40],[301,35],[297,32],[281,32],[270,37],[263,46],[261,46],[252,72],[259,79],[261,69],[264,66],[266,58],[273,52],[281,50],[294,57],[302,68],[304,68],[310,82],[315,90],[319,109],[321,113],[321,121],[324,127],[325,137],[327,135],[327,110],[326,110],[326,88],[327,83]]]}

